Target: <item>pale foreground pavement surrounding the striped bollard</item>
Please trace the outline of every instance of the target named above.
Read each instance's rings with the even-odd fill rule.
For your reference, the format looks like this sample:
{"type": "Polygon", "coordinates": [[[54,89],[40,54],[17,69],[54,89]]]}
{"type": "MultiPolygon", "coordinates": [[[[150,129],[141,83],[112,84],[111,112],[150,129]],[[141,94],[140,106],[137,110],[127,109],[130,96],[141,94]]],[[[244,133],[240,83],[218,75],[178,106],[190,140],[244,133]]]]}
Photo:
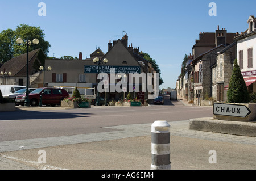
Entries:
{"type": "MultiPolygon", "coordinates": [[[[188,124],[170,122],[172,170],[256,169],[255,137],[195,131],[188,124]],[[218,164],[208,162],[210,150],[218,164]]],[[[115,131],[0,142],[0,169],[150,170],[151,124],[108,128],[115,131]],[[39,150],[46,151],[46,164],[38,163],[39,150]]]]}

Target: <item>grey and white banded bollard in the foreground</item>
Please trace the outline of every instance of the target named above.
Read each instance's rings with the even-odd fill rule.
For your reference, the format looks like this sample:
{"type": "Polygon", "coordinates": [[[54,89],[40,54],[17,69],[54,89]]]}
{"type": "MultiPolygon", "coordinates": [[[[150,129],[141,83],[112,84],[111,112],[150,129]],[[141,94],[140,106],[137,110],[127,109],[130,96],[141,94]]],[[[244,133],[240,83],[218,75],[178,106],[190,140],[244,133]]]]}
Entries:
{"type": "Polygon", "coordinates": [[[170,124],[155,121],[151,125],[151,170],[171,170],[170,124]]]}

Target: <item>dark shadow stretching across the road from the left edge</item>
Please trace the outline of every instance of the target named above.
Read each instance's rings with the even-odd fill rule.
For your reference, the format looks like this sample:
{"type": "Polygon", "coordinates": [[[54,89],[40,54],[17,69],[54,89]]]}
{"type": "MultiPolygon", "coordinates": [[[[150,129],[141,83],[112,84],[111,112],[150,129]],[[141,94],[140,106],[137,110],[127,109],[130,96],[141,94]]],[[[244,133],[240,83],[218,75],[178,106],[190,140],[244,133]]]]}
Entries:
{"type": "Polygon", "coordinates": [[[29,120],[29,119],[72,119],[76,117],[89,117],[91,113],[81,112],[41,112],[18,110],[14,112],[0,112],[1,120],[29,120]],[[86,116],[88,115],[88,116],[86,116]]]}

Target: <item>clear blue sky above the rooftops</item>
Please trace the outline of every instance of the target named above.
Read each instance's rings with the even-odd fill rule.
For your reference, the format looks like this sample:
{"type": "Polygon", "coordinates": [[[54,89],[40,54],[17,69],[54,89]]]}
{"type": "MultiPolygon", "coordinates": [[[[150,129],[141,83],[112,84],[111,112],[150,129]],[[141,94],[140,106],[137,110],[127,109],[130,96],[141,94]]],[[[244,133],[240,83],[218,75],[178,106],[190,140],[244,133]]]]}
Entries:
{"type": "Polygon", "coordinates": [[[175,88],[185,54],[200,32],[217,26],[230,33],[247,30],[255,0],[0,0],[0,32],[19,24],[40,27],[51,48],[47,56],[90,57],[108,52],[109,40],[129,36],[128,45],[156,61],[164,83],[175,88]],[[214,3],[214,4],[213,4],[214,3]]]}

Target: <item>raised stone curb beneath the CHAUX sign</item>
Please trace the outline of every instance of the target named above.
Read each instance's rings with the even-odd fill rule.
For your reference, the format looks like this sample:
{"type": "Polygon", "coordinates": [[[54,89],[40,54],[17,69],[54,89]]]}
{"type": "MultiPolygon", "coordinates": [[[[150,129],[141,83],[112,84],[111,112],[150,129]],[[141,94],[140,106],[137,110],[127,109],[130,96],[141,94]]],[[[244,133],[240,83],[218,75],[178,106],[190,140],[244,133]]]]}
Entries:
{"type": "Polygon", "coordinates": [[[224,121],[204,117],[190,119],[189,129],[256,137],[256,122],[224,121]]]}

